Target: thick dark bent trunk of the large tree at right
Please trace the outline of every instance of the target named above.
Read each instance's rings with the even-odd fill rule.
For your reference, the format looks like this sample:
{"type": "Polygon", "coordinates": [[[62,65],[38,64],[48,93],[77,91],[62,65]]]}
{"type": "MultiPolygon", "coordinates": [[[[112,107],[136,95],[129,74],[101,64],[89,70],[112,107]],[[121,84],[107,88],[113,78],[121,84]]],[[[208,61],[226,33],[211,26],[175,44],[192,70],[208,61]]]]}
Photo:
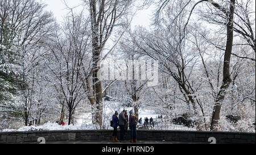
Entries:
{"type": "Polygon", "coordinates": [[[226,50],[225,50],[225,56],[224,56],[224,68],[223,68],[223,80],[222,85],[220,88],[220,92],[218,93],[216,97],[216,101],[213,108],[213,114],[212,114],[212,121],[210,123],[210,130],[211,131],[217,131],[217,124],[218,120],[220,119],[220,110],[221,110],[221,102],[225,98],[225,94],[227,89],[229,88],[229,84],[231,83],[230,78],[230,58],[233,48],[233,18],[234,18],[234,5],[235,0],[230,0],[230,12],[228,13],[227,17],[229,18],[227,27],[227,41],[226,41],[226,50]]]}

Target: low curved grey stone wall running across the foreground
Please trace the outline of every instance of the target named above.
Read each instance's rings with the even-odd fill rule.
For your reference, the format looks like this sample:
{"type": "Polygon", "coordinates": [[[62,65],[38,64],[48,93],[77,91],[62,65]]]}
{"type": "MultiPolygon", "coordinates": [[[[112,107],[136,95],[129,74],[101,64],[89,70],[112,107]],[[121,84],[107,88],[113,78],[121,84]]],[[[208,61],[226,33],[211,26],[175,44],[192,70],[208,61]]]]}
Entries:
{"type": "MultiPolygon", "coordinates": [[[[112,130],[0,132],[0,143],[35,143],[38,140],[38,137],[44,137],[46,139],[46,143],[47,141],[62,140],[109,141],[111,139],[112,133],[112,130]]],[[[156,130],[139,130],[137,133],[138,140],[166,140],[209,143],[209,137],[215,137],[217,144],[255,144],[255,133],[156,130]]],[[[130,131],[127,131],[125,139],[130,139],[130,131]]]]}

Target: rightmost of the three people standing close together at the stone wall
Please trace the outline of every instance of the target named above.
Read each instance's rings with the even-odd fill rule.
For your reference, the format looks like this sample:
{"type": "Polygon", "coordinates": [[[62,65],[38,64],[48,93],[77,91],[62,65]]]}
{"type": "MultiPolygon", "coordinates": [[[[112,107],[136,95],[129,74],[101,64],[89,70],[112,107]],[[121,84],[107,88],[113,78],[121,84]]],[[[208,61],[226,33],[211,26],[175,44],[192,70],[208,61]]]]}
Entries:
{"type": "Polygon", "coordinates": [[[137,143],[137,124],[138,124],[138,119],[137,116],[133,113],[133,110],[131,110],[129,116],[129,128],[131,130],[131,140],[130,143],[137,143]]]}

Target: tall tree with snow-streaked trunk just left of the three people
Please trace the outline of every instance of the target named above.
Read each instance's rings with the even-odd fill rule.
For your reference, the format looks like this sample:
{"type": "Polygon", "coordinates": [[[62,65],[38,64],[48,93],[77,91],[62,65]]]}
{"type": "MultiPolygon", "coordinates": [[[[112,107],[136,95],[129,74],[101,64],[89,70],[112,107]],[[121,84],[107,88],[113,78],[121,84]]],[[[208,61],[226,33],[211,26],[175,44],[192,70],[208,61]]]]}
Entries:
{"type": "Polygon", "coordinates": [[[92,105],[93,124],[102,127],[102,84],[100,74],[101,55],[106,42],[112,35],[114,27],[120,24],[121,18],[133,1],[131,0],[90,0],[84,1],[90,14],[90,27],[92,33],[92,86],[89,79],[86,88],[90,91],[89,101],[92,105]],[[92,88],[92,90],[91,90],[92,88]]]}

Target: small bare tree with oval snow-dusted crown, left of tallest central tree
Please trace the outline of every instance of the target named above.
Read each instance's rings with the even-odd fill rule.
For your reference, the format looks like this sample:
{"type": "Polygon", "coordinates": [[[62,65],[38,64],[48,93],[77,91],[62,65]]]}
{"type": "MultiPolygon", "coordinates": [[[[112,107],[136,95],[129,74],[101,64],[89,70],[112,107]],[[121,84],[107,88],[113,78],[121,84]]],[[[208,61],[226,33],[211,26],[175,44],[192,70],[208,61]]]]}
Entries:
{"type": "Polygon", "coordinates": [[[86,97],[83,84],[88,77],[82,68],[87,65],[90,68],[89,22],[80,14],[71,12],[67,15],[63,26],[56,25],[56,32],[49,37],[48,70],[51,71],[51,80],[57,93],[59,103],[62,105],[61,119],[63,119],[64,107],[68,110],[68,124],[71,124],[72,116],[77,105],[86,97]]]}

